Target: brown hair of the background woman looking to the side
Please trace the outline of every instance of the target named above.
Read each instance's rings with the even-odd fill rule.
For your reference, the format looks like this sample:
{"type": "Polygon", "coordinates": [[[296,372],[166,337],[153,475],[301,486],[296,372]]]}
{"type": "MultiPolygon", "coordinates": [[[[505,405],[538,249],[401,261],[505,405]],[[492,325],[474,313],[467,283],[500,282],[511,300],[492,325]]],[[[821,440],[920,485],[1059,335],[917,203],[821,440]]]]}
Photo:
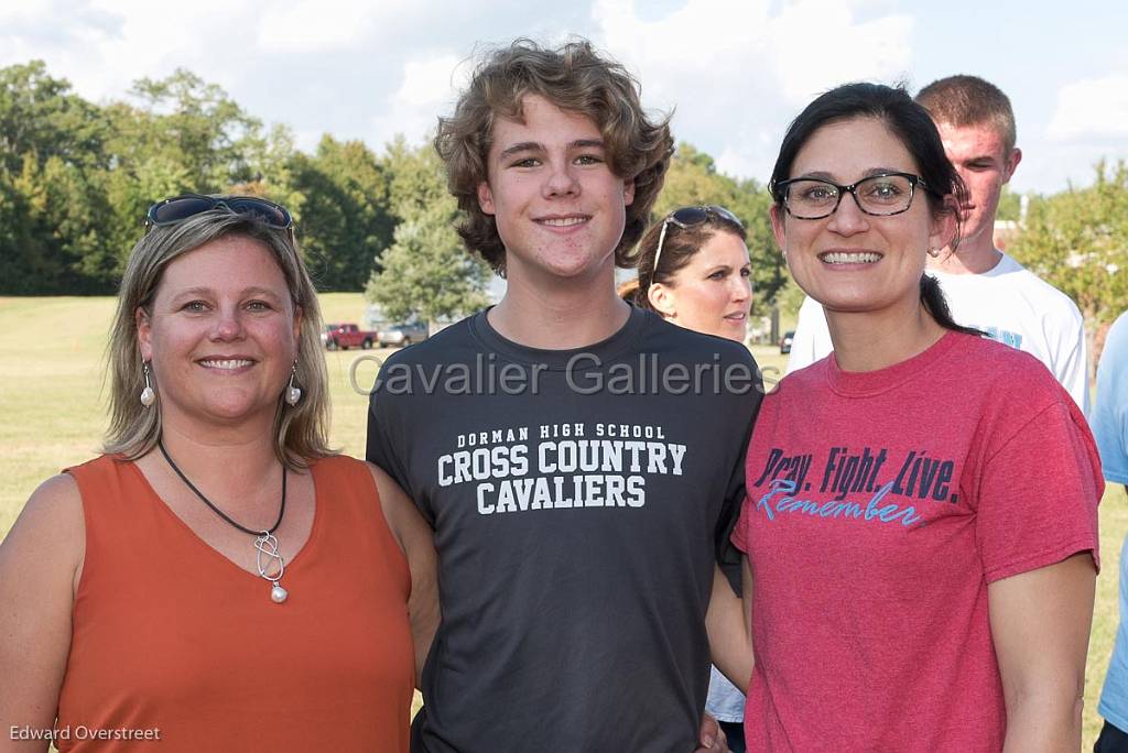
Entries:
{"type": "Polygon", "coordinates": [[[654,307],[650,302],[650,286],[654,283],[669,285],[673,276],[693,260],[697,251],[714,234],[731,232],[740,240],[748,241],[748,231],[744,230],[743,225],[716,212],[707,212],[705,222],[688,228],[668,222],[670,214],[646,229],[634,254],[638,265],[638,276],[619,285],[618,289],[619,296],[625,301],[651,311],[654,310],[654,307]],[[662,241],[662,257],[658,260],[658,268],[654,268],[654,256],[658,254],[658,241],[662,236],[662,225],[667,225],[666,240],[662,241]]]}

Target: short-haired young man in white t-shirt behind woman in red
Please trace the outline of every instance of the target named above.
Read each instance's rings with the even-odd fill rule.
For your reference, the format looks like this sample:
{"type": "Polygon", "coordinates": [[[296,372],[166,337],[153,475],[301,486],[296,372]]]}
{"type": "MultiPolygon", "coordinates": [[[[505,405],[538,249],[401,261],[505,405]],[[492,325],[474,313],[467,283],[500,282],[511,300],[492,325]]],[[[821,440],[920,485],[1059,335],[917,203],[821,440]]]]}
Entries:
{"type": "MultiPolygon", "coordinates": [[[[975,76],[933,81],[917,96],[940,130],[944,151],[968,188],[960,205],[962,236],[928,259],[952,318],[994,340],[1024,351],[1050,370],[1089,413],[1085,328],[1073,300],[995,247],[1003,186],[1022,160],[1014,112],[998,87],[975,76]]],[[[799,311],[787,373],[830,352],[822,308],[808,296],[799,311]]]]}

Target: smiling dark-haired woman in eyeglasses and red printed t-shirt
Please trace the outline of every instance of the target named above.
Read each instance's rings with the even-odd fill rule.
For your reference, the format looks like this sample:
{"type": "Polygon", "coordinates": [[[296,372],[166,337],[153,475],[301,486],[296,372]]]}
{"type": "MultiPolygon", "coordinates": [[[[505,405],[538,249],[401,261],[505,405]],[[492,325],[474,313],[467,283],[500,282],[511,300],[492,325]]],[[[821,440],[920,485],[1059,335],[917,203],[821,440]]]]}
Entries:
{"type": "Polygon", "coordinates": [[[924,275],[963,194],[932,119],[902,89],[834,89],[770,188],[835,347],[749,448],[749,750],[1076,751],[1099,463],[1052,374],[924,275]]]}

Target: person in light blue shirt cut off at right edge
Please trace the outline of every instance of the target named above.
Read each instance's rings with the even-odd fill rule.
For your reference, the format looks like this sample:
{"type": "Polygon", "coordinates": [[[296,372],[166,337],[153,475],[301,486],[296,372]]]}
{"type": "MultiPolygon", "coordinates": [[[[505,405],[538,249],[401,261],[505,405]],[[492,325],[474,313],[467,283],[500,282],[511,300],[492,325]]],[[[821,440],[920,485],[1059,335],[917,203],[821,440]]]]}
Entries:
{"type": "MultiPolygon", "coordinates": [[[[1104,478],[1128,491],[1128,312],[1113,322],[1104,340],[1092,427],[1104,478]]],[[[1128,540],[1120,549],[1120,624],[1096,710],[1104,727],[1094,753],[1128,753],[1128,540]]]]}

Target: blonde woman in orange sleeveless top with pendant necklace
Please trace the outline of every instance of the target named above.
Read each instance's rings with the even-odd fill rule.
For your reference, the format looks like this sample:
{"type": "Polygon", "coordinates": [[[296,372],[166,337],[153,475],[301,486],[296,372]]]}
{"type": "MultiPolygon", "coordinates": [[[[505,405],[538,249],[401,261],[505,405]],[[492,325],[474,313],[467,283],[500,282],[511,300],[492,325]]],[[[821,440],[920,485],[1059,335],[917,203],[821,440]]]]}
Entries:
{"type": "Polygon", "coordinates": [[[54,728],[60,751],[407,751],[431,533],[328,449],[290,215],[186,195],[147,224],[105,454],[44,482],[0,546],[0,721],[32,730],[0,750],[54,728]]]}

